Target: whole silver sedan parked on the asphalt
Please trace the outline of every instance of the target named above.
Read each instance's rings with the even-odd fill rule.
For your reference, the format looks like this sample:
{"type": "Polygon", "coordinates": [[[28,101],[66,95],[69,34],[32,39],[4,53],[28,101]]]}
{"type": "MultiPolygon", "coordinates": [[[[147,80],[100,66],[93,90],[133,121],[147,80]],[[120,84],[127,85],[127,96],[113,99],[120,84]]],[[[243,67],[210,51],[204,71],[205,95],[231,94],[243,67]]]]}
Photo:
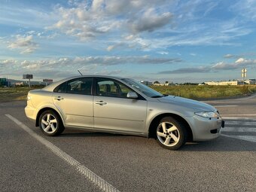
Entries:
{"type": "Polygon", "coordinates": [[[78,76],[31,90],[26,116],[47,136],[65,127],[155,138],[177,150],[219,136],[224,121],[212,105],[167,96],[130,78],[78,76]]]}

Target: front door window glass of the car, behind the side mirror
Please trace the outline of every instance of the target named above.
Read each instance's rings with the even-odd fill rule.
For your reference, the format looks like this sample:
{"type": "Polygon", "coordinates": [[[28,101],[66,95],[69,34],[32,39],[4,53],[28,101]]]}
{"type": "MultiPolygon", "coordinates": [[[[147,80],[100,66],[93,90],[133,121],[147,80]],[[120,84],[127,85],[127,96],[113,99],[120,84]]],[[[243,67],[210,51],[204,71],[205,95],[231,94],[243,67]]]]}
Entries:
{"type": "Polygon", "coordinates": [[[96,86],[98,96],[126,98],[127,93],[134,92],[124,84],[107,78],[98,78],[96,86]]]}

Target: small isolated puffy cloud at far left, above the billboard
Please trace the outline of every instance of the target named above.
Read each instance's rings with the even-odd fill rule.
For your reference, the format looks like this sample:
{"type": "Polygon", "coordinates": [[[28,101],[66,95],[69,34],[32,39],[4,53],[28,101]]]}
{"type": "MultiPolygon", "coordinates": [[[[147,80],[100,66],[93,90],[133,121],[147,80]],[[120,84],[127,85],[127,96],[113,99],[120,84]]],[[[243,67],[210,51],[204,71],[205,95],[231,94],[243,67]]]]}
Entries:
{"type": "Polygon", "coordinates": [[[33,41],[32,35],[17,35],[14,41],[11,41],[8,45],[10,49],[20,50],[20,53],[33,53],[37,48],[38,44],[33,41]]]}

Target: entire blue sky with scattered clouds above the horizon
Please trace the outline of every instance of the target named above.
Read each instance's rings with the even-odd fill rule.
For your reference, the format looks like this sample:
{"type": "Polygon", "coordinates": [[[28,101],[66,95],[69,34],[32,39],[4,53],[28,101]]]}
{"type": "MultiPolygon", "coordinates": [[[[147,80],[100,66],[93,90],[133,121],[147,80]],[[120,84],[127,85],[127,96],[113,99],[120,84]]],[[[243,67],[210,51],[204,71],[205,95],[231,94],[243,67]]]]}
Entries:
{"type": "Polygon", "coordinates": [[[256,78],[256,1],[0,0],[0,78],[256,78]]]}

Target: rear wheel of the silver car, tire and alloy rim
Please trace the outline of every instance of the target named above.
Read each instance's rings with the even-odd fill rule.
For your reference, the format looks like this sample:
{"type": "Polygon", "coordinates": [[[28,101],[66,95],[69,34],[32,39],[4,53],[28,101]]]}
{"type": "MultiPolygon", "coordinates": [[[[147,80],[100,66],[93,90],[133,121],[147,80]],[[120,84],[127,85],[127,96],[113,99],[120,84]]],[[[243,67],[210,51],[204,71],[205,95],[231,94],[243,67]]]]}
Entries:
{"type": "Polygon", "coordinates": [[[52,110],[44,111],[40,115],[39,126],[46,136],[58,136],[65,129],[59,115],[52,110]]]}

